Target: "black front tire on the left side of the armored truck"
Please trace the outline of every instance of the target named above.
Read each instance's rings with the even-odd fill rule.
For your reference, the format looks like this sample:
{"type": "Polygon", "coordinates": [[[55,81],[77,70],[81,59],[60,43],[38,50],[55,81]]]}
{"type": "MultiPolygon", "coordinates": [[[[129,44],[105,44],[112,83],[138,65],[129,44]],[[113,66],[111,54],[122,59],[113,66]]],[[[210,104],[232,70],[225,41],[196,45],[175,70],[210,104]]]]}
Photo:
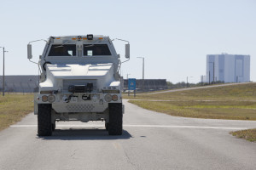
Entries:
{"type": "Polygon", "coordinates": [[[51,136],[51,104],[38,104],[38,136],[51,136]]]}

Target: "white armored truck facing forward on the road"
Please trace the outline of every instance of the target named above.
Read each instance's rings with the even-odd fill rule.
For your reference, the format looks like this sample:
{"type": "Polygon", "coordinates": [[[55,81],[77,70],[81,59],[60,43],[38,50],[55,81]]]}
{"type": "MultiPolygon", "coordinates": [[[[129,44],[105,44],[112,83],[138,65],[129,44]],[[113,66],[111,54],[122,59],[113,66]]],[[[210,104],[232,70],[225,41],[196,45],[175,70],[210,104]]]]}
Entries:
{"type": "MultiPolygon", "coordinates": [[[[27,57],[32,59],[31,42],[27,57]]],[[[130,59],[129,42],[125,58],[130,59]]],[[[109,37],[49,37],[37,64],[41,75],[34,105],[39,136],[52,135],[56,121],[105,121],[109,135],[122,134],[121,61],[109,37]]]]}

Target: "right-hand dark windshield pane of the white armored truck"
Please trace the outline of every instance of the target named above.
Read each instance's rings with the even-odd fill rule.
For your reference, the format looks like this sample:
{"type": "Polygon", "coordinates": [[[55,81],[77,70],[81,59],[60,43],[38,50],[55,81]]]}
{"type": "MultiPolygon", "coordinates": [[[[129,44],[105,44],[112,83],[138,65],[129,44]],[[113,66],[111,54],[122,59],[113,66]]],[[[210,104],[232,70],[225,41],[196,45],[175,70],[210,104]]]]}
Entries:
{"type": "Polygon", "coordinates": [[[111,55],[108,44],[84,44],[84,56],[111,55]]]}

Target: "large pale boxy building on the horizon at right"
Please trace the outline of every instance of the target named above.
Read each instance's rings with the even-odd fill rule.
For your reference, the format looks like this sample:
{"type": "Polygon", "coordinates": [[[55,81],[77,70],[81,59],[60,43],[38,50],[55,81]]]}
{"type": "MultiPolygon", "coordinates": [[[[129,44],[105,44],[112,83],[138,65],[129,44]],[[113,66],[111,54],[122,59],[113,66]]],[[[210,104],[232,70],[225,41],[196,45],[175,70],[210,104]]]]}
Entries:
{"type": "Polygon", "coordinates": [[[209,54],[203,82],[250,82],[250,55],[209,54]]]}

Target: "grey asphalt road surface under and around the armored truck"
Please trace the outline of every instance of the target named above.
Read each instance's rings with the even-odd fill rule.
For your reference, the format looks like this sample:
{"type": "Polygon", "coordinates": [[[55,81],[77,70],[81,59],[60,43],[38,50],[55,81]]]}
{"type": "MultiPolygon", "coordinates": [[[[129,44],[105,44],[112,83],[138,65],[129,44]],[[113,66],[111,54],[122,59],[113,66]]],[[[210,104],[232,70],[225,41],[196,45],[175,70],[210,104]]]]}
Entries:
{"type": "Polygon", "coordinates": [[[37,136],[37,116],[0,132],[0,169],[256,169],[256,144],[230,131],[256,122],[168,116],[125,103],[124,134],[103,122],[57,122],[37,136]]]}

